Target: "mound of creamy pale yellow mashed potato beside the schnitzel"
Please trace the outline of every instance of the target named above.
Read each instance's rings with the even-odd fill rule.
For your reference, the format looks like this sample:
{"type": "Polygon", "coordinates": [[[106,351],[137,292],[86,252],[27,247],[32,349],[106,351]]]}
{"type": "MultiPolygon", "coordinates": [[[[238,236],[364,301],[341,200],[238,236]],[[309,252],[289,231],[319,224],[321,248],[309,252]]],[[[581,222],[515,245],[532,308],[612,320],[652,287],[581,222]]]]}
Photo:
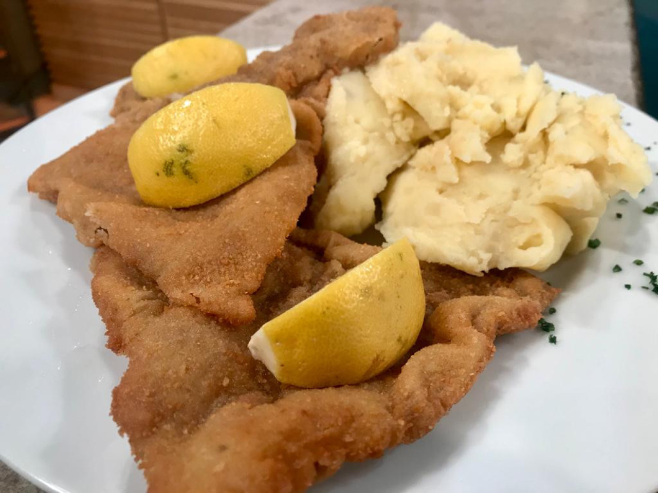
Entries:
{"type": "Polygon", "coordinates": [[[586,247],[611,195],[651,181],[614,96],[556,93],[516,49],[443,24],[335,79],[327,111],[318,226],[363,231],[386,187],[386,241],[470,273],[544,270],[586,247]]]}

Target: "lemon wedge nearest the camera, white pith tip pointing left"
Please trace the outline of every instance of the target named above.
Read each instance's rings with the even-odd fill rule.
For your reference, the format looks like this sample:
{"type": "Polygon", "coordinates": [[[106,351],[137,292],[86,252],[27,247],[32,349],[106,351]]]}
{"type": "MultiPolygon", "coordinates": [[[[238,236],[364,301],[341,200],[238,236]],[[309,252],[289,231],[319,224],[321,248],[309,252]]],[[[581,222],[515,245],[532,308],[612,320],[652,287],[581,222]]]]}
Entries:
{"type": "Polygon", "coordinates": [[[424,314],[418,259],[401,239],[265,323],[249,350],[283,383],[359,383],[409,351],[424,314]]]}

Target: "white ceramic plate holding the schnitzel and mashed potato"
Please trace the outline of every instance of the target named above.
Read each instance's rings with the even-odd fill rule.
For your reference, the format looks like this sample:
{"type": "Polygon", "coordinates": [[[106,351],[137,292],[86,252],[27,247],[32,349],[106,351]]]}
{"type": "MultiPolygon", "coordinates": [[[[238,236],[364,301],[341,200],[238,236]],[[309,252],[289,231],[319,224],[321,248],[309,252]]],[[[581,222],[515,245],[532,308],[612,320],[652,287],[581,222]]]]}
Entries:
{"type": "MultiPolygon", "coordinates": [[[[559,89],[597,93],[547,77],[559,89]]],[[[55,492],[145,490],[108,415],[126,361],[105,348],[89,289],[91,250],[53,204],[26,191],[40,164],[111,123],[121,84],[0,145],[0,459],[55,492]]],[[[630,106],[623,118],[652,147],[656,172],[658,122],[630,106]]],[[[658,182],[637,202],[613,200],[595,233],[601,247],[545,273],[564,289],[550,317],[557,345],[538,330],[501,337],[476,385],[426,438],[347,465],[314,491],[655,492],[658,296],[640,289],[642,272],[658,271],[658,215],[641,212],[654,200],[658,182]]]]}

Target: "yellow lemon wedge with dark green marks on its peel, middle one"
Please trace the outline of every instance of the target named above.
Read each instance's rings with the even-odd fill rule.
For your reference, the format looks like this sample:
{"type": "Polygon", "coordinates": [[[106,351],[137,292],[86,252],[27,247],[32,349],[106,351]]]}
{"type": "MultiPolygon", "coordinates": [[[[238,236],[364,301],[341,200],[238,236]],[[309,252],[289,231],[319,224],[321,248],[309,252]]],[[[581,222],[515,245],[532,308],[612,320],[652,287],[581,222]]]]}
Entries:
{"type": "Polygon", "coordinates": [[[286,94],[256,83],[206,87],[151,115],[128,144],[141,199],[189,207],[257,176],[295,145],[286,94]]]}

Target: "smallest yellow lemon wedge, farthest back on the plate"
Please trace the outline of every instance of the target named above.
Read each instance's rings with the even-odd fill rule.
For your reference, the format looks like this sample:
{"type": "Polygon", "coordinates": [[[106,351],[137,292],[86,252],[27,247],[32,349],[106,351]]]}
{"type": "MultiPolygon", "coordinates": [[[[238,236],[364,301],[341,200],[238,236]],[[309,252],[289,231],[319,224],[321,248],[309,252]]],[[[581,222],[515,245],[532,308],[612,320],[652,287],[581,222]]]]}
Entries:
{"type": "Polygon", "coordinates": [[[244,47],[230,39],[180,37],[142,55],[132,66],[132,85],[143,97],[182,93],[235,74],[246,62],[244,47]]]}

